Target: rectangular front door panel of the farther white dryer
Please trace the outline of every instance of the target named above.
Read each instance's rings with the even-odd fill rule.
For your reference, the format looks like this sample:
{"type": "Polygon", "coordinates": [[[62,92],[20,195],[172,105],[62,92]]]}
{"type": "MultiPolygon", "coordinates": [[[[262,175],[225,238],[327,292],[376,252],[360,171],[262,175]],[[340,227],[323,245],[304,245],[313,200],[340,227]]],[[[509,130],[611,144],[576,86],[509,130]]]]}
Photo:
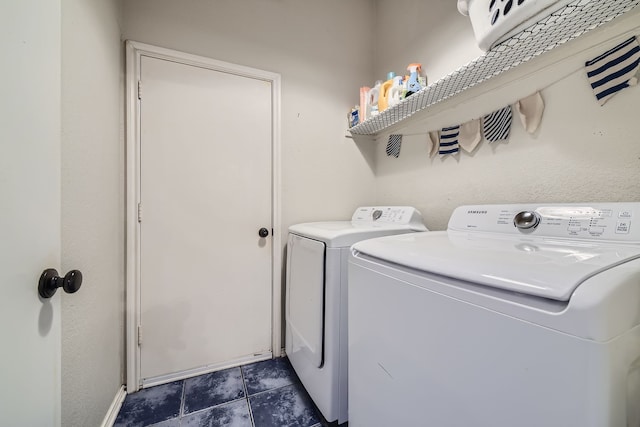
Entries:
{"type": "Polygon", "coordinates": [[[287,345],[287,352],[301,353],[316,367],[323,363],[325,251],[323,242],[289,234],[286,322],[291,346],[287,345]]]}

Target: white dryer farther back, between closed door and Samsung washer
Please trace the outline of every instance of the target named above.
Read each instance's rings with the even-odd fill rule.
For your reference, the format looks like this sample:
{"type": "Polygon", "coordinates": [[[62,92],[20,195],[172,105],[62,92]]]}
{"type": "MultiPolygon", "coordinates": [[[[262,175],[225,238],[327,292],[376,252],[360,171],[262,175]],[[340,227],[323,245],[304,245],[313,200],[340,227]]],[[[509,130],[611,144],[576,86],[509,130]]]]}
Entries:
{"type": "Polygon", "coordinates": [[[289,228],[285,349],[329,422],[347,421],[347,265],[349,247],[379,236],[425,231],[412,207],[362,207],[351,221],[289,228]]]}

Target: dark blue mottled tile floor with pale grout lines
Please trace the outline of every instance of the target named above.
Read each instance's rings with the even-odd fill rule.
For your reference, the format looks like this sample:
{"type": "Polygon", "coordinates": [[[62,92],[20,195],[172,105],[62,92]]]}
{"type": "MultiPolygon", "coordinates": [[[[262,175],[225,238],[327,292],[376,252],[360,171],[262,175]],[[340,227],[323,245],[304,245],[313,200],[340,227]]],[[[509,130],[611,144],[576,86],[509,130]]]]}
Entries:
{"type": "Polygon", "coordinates": [[[127,395],[114,426],[319,427],[289,360],[266,360],[127,395]]]}

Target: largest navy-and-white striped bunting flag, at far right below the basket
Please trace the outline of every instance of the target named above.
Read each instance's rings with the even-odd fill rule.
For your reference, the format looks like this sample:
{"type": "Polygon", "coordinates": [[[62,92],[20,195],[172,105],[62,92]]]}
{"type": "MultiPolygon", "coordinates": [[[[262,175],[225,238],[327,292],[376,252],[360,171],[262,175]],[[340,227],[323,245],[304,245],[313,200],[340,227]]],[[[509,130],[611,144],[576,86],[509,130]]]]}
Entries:
{"type": "Polygon", "coordinates": [[[587,78],[600,105],[622,89],[635,86],[640,66],[640,45],[633,36],[585,63],[587,78]]]}

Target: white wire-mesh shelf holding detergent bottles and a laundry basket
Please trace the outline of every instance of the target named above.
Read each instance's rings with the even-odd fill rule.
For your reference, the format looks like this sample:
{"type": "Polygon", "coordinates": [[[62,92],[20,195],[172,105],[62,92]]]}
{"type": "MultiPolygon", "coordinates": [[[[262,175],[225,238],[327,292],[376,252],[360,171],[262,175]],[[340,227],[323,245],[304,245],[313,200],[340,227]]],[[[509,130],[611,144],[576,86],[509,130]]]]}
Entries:
{"type": "Polygon", "coordinates": [[[379,132],[517,67],[629,12],[640,0],[576,0],[505,40],[482,56],[375,117],[349,129],[352,135],[379,132]]]}

